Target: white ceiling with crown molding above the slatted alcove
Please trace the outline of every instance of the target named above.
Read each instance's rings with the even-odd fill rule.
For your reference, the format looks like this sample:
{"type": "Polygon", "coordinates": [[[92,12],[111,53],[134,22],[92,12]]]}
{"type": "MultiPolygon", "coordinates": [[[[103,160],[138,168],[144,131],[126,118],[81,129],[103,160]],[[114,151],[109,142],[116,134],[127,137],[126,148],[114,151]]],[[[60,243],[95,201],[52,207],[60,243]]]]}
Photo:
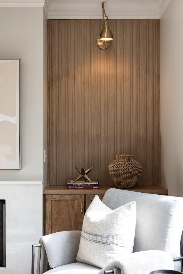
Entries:
{"type": "MultiPolygon", "coordinates": [[[[158,19],[171,0],[103,0],[109,19],[158,19]]],[[[102,0],[0,0],[0,7],[43,7],[48,19],[101,19],[102,0]]]]}

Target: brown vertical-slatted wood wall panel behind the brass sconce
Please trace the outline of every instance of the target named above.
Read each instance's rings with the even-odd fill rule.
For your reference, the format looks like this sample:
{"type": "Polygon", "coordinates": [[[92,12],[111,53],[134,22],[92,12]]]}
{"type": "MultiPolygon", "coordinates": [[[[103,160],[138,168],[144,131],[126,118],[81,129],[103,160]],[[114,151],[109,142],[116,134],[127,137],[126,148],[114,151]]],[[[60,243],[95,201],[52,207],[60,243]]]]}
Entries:
{"type": "Polygon", "coordinates": [[[158,19],[110,19],[114,41],[100,49],[102,20],[48,20],[48,185],[79,173],[112,186],[108,165],[134,154],[137,185],[160,184],[158,19]],[[90,30],[90,31],[89,31],[90,30]]]}

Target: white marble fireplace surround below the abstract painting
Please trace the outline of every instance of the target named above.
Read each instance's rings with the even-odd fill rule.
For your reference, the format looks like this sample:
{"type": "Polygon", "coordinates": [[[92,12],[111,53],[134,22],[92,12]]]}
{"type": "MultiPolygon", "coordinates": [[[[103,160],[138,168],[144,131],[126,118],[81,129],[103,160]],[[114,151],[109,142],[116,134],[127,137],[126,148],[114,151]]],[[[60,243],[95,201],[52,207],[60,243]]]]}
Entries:
{"type": "Polygon", "coordinates": [[[6,267],[0,274],[30,274],[32,244],[43,231],[42,182],[0,182],[6,200],[6,267]]]}

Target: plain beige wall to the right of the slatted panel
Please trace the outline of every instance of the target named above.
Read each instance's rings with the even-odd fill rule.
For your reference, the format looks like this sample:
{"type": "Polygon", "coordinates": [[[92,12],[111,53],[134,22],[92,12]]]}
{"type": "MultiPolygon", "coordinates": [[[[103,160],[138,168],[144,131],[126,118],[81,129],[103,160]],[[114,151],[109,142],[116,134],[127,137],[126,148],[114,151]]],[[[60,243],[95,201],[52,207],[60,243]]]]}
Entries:
{"type": "Polygon", "coordinates": [[[183,196],[183,1],[161,18],[161,184],[183,196]]]}

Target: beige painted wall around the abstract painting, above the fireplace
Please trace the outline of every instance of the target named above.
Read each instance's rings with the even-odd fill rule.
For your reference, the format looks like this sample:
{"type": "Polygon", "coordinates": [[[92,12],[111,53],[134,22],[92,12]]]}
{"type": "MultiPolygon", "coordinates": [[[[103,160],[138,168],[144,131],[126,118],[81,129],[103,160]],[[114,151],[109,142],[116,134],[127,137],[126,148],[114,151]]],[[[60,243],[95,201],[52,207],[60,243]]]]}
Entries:
{"type": "Polygon", "coordinates": [[[46,28],[43,7],[0,9],[0,59],[21,58],[22,159],[21,170],[0,170],[1,181],[46,180],[46,28]]]}

